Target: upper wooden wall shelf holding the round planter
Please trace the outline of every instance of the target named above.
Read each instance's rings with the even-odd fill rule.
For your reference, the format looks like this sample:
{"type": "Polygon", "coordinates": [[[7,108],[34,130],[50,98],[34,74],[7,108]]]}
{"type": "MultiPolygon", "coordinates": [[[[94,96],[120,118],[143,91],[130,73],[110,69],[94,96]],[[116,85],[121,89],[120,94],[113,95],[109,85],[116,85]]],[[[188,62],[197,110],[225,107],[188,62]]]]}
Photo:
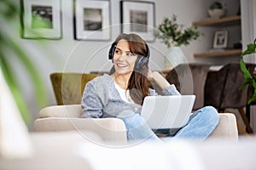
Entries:
{"type": "Polygon", "coordinates": [[[220,19],[208,19],[193,22],[194,26],[230,26],[239,25],[241,23],[241,15],[227,16],[220,19]]]}

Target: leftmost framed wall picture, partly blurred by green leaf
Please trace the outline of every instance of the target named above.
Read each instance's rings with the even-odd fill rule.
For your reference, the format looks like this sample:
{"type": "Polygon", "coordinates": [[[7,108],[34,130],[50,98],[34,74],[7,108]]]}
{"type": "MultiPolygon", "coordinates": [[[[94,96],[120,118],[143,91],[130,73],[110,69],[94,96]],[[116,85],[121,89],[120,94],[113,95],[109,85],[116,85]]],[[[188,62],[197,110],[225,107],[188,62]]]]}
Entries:
{"type": "Polygon", "coordinates": [[[61,39],[61,0],[21,0],[21,37],[61,39]]]}

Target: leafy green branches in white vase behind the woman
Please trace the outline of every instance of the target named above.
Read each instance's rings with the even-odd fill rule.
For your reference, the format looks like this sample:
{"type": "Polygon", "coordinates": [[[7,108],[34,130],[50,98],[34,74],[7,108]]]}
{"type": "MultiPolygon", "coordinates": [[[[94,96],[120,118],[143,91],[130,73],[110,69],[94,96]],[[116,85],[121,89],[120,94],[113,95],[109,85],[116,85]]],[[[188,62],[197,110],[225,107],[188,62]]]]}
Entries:
{"type": "Polygon", "coordinates": [[[155,37],[164,42],[168,48],[165,63],[166,70],[186,62],[185,56],[179,47],[189,45],[191,41],[197,40],[201,35],[202,33],[197,30],[196,26],[184,29],[182,24],[177,24],[175,14],[171,18],[164,18],[162,23],[157,26],[155,37]]]}

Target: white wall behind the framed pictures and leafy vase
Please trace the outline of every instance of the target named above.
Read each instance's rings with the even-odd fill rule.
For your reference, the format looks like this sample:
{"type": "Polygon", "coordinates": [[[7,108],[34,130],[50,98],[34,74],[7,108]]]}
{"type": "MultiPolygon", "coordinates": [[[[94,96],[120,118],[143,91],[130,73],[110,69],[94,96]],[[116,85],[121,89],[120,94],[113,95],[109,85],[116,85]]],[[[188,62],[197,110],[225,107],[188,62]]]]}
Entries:
{"type": "MultiPolygon", "coordinates": [[[[224,3],[229,0],[223,0],[224,3]]],[[[230,0],[232,2],[232,0],[230,0]]],[[[236,0],[238,1],[238,0],[236,0]]],[[[49,74],[55,71],[108,71],[111,67],[111,61],[108,60],[108,48],[113,39],[119,35],[119,0],[110,0],[111,4],[111,23],[112,37],[111,41],[76,41],[73,38],[73,0],[62,0],[62,31],[61,40],[31,40],[21,39],[19,34],[13,34],[17,42],[20,42],[31,54],[32,60],[36,63],[38,70],[42,73],[45,86],[49,92],[49,104],[55,105],[55,98],[51,84],[49,82],[49,74]],[[41,46],[43,42],[44,46],[41,46]]],[[[191,26],[195,20],[203,20],[207,18],[207,7],[211,1],[205,0],[156,0],[155,3],[155,23],[160,24],[163,18],[170,17],[172,14],[177,15],[177,21],[185,26],[191,26]]],[[[237,8],[236,5],[234,10],[237,8]]],[[[234,10],[231,10],[234,11],[234,10]]],[[[206,37],[201,37],[200,41],[192,42],[188,47],[182,47],[183,53],[187,56],[188,62],[207,62],[212,64],[224,64],[230,58],[217,59],[194,59],[193,54],[205,51],[212,46],[212,30],[208,28],[200,28],[206,31],[206,37]]],[[[164,68],[164,54],[166,54],[166,46],[159,40],[149,42],[151,47],[151,64],[152,70],[164,68]]],[[[34,102],[34,93],[32,86],[27,77],[24,77],[24,70],[15,59],[14,69],[19,75],[19,81],[26,94],[26,99],[33,112],[33,119],[37,117],[38,108],[34,102]]]]}

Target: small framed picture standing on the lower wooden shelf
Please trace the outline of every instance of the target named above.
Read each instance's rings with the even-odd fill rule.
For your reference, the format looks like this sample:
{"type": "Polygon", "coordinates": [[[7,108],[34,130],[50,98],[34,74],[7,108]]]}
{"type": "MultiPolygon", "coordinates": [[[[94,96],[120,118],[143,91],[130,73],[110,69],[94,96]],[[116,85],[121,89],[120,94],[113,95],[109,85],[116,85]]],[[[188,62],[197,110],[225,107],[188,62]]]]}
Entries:
{"type": "Polygon", "coordinates": [[[228,46],[228,31],[215,31],[213,48],[226,48],[228,46]]]}

